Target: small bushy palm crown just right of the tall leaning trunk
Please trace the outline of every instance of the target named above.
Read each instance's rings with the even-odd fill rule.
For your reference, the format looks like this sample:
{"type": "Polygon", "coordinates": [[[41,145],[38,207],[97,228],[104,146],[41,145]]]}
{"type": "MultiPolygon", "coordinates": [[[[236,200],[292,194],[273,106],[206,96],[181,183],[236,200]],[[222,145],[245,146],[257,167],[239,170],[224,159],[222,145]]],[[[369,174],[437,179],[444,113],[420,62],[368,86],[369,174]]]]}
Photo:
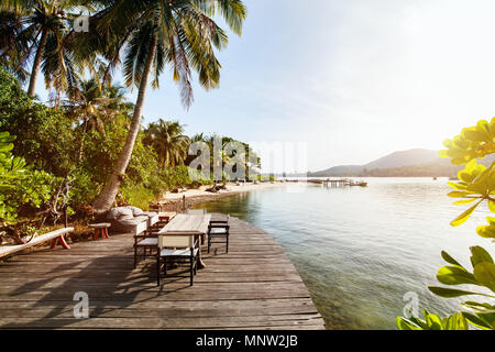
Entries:
{"type": "Polygon", "coordinates": [[[162,167],[184,165],[190,140],[183,134],[184,127],[178,121],[160,119],[156,123],[150,123],[144,133],[143,142],[156,151],[162,167]]]}

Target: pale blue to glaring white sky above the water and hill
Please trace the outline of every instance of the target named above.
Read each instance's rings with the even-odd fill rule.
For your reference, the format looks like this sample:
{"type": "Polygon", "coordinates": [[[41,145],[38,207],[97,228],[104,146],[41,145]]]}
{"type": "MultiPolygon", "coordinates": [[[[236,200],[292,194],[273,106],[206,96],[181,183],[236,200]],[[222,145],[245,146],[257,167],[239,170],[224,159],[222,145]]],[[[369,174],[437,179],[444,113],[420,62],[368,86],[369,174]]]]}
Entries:
{"type": "Polygon", "coordinates": [[[245,4],[242,37],[231,35],[219,54],[220,89],[197,87],[186,111],[167,72],[148,92],[145,123],[178,119],[188,134],[306,142],[317,170],[439,150],[495,116],[493,0],[245,4]]]}

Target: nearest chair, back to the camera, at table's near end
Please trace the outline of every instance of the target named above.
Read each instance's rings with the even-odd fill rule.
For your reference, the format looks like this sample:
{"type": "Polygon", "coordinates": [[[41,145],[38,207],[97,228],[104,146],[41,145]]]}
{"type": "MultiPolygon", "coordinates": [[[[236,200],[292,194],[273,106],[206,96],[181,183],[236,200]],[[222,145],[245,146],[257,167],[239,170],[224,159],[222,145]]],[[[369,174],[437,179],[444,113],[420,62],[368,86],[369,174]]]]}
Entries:
{"type": "MultiPolygon", "coordinates": [[[[189,264],[190,286],[194,284],[194,277],[197,272],[198,258],[198,240],[195,241],[195,235],[158,235],[158,253],[156,255],[156,283],[160,286],[160,280],[163,274],[167,276],[167,264],[189,264]]],[[[178,273],[182,274],[182,273],[178,273]]],[[[186,277],[178,274],[169,275],[175,277],[186,277]]]]}

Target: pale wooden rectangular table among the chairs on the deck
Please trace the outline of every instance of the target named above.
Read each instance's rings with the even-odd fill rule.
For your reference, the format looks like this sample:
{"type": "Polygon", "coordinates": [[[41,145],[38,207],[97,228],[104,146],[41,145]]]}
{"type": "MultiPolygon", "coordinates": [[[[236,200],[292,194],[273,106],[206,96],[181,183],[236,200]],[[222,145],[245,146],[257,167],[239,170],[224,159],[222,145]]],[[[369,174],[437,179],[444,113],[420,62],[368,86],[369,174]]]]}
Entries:
{"type": "MultiPolygon", "coordinates": [[[[179,213],[158,232],[158,235],[194,235],[195,240],[199,237],[205,239],[208,234],[210,220],[211,215],[179,213]]],[[[201,261],[201,241],[198,241],[198,267],[205,268],[206,265],[201,261]]]]}

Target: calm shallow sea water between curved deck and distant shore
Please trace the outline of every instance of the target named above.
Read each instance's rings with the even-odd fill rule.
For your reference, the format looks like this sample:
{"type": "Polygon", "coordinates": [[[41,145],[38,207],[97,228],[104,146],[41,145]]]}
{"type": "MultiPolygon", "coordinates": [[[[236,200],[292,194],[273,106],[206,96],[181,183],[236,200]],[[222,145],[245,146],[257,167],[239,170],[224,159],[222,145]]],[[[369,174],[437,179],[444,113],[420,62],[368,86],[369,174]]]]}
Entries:
{"type": "Polygon", "coordinates": [[[466,206],[453,206],[447,179],[370,178],[369,187],[294,186],[201,205],[268,231],[284,248],[330,329],[396,329],[404,295],[420,308],[449,314],[458,299],[427,289],[446,250],[470,267],[469,248],[491,242],[475,229],[487,207],[460,228],[450,227],[466,206]]]}

